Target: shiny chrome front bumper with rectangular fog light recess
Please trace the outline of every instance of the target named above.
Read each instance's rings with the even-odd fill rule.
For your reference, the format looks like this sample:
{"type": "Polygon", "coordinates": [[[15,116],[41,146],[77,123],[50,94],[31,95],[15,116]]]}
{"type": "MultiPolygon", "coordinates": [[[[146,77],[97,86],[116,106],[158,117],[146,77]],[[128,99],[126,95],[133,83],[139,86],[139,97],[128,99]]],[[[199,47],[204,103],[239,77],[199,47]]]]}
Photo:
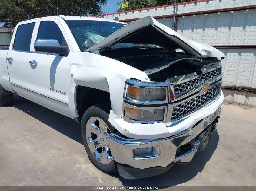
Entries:
{"type": "Polygon", "coordinates": [[[139,140],[110,134],[108,137],[108,145],[116,162],[134,168],[167,167],[171,163],[190,162],[194,154],[200,148],[200,140],[194,143],[190,151],[176,157],[177,149],[198,137],[198,135],[207,126],[213,123],[214,119],[220,114],[221,107],[200,122],[168,138],[139,140]],[[142,155],[136,155],[134,152],[134,149],[151,147],[153,147],[151,156],[143,157],[142,155]]]}

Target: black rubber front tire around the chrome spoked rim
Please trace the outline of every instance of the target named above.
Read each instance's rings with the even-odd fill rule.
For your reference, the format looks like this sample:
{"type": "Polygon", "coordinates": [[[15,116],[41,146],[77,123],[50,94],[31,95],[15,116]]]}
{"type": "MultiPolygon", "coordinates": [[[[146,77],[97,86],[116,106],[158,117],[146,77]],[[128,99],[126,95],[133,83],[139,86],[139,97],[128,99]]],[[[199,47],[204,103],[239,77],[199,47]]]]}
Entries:
{"type": "Polygon", "coordinates": [[[81,135],[82,135],[83,144],[85,146],[85,151],[87,152],[88,158],[91,161],[91,163],[95,167],[97,167],[99,170],[105,173],[117,173],[118,169],[117,169],[117,164],[115,160],[113,159],[109,164],[103,164],[100,161],[98,161],[93,155],[93,153],[91,152],[88,146],[87,138],[86,138],[86,124],[91,117],[98,117],[102,119],[107,124],[108,127],[111,127],[111,124],[108,121],[110,108],[111,108],[110,103],[101,103],[101,104],[97,104],[95,106],[89,107],[85,111],[82,117],[81,135]]]}

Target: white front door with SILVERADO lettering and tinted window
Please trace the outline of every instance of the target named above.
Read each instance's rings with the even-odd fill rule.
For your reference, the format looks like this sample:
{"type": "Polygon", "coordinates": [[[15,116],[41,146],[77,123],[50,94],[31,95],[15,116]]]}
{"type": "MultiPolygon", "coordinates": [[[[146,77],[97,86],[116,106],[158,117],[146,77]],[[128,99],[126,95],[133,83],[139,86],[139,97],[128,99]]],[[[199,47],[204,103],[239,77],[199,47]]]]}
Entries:
{"type": "MultiPolygon", "coordinates": [[[[39,19],[32,43],[38,39],[55,39],[60,45],[71,44],[62,25],[55,18],[39,19]]],[[[26,76],[30,98],[45,107],[69,116],[69,60],[71,54],[62,56],[55,53],[35,51],[34,46],[28,56],[29,75],[26,76]]]]}

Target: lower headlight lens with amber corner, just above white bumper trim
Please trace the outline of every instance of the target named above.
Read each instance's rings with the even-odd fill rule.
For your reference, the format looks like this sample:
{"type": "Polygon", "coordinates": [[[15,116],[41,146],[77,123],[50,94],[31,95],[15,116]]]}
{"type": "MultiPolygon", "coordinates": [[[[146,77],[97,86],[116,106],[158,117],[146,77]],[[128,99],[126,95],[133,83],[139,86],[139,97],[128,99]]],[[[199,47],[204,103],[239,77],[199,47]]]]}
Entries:
{"type": "Polygon", "coordinates": [[[125,116],[135,121],[163,121],[165,109],[135,109],[125,106],[125,116]]]}

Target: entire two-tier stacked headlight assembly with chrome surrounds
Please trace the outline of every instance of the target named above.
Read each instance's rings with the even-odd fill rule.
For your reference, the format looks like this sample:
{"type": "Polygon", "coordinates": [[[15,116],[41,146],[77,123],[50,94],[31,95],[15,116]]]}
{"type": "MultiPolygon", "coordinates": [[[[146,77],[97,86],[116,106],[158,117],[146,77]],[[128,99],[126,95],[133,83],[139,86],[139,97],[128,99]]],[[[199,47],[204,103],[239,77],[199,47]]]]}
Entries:
{"type": "Polygon", "coordinates": [[[131,123],[164,122],[169,100],[168,91],[168,82],[126,80],[123,119],[131,123]]]}

